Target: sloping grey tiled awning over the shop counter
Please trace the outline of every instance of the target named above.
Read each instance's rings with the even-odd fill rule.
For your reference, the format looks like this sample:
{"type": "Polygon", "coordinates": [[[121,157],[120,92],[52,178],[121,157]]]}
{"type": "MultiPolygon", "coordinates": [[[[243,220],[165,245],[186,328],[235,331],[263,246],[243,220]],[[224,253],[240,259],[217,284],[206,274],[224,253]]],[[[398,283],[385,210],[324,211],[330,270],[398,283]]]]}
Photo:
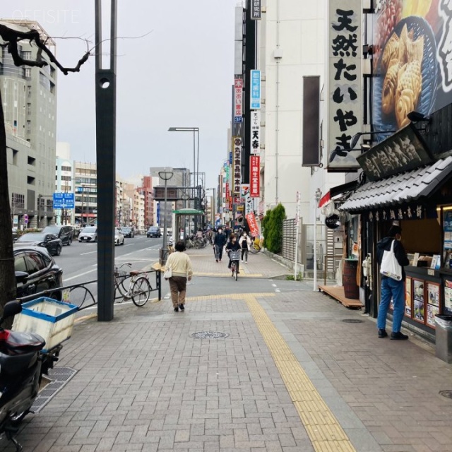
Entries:
{"type": "Polygon", "coordinates": [[[339,210],[360,213],[367,210],[422,201],[452,174],[452,156],[432,165],[396,174],[360,186],[339,210]]]}

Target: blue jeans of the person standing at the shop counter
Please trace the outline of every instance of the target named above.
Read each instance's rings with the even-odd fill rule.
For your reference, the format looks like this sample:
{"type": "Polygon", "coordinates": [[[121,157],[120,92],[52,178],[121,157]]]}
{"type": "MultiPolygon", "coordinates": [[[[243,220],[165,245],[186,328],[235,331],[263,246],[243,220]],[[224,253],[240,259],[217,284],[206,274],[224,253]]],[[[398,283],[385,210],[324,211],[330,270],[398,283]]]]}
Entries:
{"type": "Polygon", "coordinates": [[[391,296],[394,300],[393,333],[400,331],[403,313],[405,312],[405,281],[392,278],[381,278],[381,301],[376,325],[379,329],[386,328],[386,314],[388,314],[391,296]]]}

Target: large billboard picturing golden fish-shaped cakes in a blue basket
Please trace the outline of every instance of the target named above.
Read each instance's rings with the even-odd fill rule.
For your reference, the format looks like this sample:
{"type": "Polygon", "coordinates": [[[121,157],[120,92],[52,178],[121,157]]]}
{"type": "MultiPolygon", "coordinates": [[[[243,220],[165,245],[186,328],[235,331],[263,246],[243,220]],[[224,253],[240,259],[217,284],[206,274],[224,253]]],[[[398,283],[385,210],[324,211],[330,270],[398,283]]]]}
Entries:
{"type": "MultiPolygon", "coordinates": [[[[452,102],[452,4],[376,2],[372,60],[373,125],[393,131],[415,111],[428,116],[452,102]]],[[[378,134],[377,141],[388,136],[378,134]]]]}

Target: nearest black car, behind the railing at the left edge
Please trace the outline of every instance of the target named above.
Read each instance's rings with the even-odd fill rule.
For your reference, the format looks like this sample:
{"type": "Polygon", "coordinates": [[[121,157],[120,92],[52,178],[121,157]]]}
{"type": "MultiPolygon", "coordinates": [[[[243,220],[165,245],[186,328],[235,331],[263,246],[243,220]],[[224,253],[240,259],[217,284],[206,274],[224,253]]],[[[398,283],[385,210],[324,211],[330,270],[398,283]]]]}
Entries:
{"type": "MultiPolygon", "coordinates": [[[[63,270],[41,246],[14,246],[17,297],[27,297],[63,286],[63,270]]],[[[49,294],[61,299],[61,291],[49,294]]]]}

